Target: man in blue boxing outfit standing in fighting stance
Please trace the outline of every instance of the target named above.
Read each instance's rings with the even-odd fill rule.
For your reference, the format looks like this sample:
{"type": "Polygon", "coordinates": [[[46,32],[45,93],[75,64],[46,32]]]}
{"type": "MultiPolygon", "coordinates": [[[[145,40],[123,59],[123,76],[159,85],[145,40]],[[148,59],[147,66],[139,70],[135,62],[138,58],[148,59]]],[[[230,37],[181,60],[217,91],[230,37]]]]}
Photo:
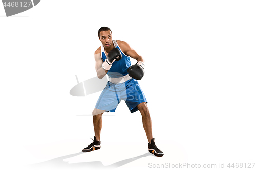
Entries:
{"type": "Polygon", "coordinates": [[[102,79],[108,74],[110,81],[102,91],[93,110],[95,133],[94,139],[91,138],[93,142],[82,151],[90,152],[100,149],[101,116],[104,112],[115,112],[117,105],[123,99],[132,113],[137,110],[141,113],[143,128],[148,139],[148,151],[155,156],[163,156],[163,152],[155,145],[147,101],[137,81],[144,75],[143,58],[126,42],[112,40],[112,31],[108,27],[101,27],[98,36],[102,46],[94,53],[95,69],[98,78],[102,79]],[[136,59],[137,64],[131,66],[130,57],[136,59]]]}

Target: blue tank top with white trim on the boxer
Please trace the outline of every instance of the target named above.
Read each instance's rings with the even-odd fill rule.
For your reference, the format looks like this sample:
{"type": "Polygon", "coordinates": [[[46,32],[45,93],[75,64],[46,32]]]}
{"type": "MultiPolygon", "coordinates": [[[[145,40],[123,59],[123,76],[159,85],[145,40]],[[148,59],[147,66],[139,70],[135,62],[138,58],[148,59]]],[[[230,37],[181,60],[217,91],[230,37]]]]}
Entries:
{"type": "MultiPolygon", "coordinates": [[[[118,50],[120,50],[121,54],[122,54],[122,59],[119,61],[115,61],[110,70],[108,71],[108,75],[109,77],[121,77],[121,76],[125,76],[128,74],[127,69],[131,66],[131,61],[130,61],[130,57],[126,56],[121,48],[118,46],[117,42],[115,40],[112,41],[114,44],[115,48],[118,48],[118,50]]],[[[104,46],[101,46],[101,58],[103,60],[103,62],[106,60],[106,54],[105,54],[105,49],[104,46]]]]}

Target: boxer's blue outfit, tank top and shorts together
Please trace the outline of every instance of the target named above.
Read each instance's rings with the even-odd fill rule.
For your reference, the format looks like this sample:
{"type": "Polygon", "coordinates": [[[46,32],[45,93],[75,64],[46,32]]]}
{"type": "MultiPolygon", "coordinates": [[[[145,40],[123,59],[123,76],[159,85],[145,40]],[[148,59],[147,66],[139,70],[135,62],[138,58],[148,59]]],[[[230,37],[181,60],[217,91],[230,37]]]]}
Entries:
{"type": "MultiPolygon", "coordinates": [[[[139,110],[138,104],[147,102],[147,100],[138,81],[128,75],[127,70],[131,66],[130,57],[122,52],[115,40],[112,42],[114,47],[120,51],[122,58],[118,62],[113,62],[107,72],[110,81],[100,94],[95,108],[106,112],[115,112],[118,104],[124,100],[130,112],[133,113],[139,110]]],[[[101,46],[101,58],[103,62],[107,60],[103,45],[101,46]]]]}

